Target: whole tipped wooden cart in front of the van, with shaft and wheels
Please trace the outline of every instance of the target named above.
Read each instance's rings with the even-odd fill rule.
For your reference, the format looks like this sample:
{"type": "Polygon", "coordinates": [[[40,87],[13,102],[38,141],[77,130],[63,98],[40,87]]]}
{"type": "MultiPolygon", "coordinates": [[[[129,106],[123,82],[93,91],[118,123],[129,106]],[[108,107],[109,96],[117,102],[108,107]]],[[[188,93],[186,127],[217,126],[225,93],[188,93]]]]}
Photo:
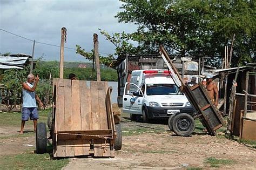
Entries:
{"type": "MultiPolygon", "coordinates": [[[[173,74],[172,77],[174,82],[180,86],[180,89],[185,93],[188,101],[190,101],[190,104],[193,106],[194,111],[196,111],[196,114],[193,115],[193,119],[199,118],[201,123],[205,126],[207,132],[210,135],[215,135],[215,130],[223,126],[225,123],[221,114],[218,112],[218,109],[212,104],[210,98],[204,90],[204,87],[201,84],[194,85],[193,87],[187,86],[180,77],[163,46],[160,46],[160,52],[161,57],[164,59],[166,65],[173,74]]],[[[176,126],[176,129],[173,128],[173,130],[178,135],[190,135],[195,127],[194,120],[192,119],[191,115],[184,114],[183,116],[180,116],[180,118],[177,116],[178,115],[173,115],[169,118],[170,129],[176,126]]]]}

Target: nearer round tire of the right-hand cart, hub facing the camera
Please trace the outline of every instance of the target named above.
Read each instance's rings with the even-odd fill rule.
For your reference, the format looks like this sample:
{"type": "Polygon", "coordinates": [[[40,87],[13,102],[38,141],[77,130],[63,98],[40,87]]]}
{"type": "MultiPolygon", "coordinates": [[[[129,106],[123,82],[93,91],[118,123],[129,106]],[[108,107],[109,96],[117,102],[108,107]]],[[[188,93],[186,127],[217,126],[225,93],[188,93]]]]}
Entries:
{"type": "Polygon", "coordinates": [[[194,123],[193,117],[187,113],[177,114],[172,120],[174,133],[182,137],[191,135],[195,127],[196,124],[194,123]]]}

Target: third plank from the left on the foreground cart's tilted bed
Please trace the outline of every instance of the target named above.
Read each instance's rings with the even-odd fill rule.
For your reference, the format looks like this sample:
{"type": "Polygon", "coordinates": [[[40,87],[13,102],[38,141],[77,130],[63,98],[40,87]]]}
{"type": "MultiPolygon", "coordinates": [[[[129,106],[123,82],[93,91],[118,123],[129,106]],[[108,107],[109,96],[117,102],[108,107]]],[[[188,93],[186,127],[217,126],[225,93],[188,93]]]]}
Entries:
{"type": "Polygon", "coordinates": [[[82,130],[81,112],[80,112],[80,92],[79,80],[72,80],[72,117],[73,127],[72,130],[82,130]]]}

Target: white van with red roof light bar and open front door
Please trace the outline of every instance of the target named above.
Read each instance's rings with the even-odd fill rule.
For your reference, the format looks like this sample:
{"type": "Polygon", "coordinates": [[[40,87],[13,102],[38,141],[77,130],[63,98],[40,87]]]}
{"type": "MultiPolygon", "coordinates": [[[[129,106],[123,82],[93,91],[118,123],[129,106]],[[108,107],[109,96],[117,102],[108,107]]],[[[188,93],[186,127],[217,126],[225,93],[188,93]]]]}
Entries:
{"type": "Polygon", "coordinates": [[[194,110],[174,83],[170,71],[155,69],[132,71],[124,88],[123,112],[130,113],[131,119],[142,115],[146,123],[173,114],[192,114],[194,110]]]}

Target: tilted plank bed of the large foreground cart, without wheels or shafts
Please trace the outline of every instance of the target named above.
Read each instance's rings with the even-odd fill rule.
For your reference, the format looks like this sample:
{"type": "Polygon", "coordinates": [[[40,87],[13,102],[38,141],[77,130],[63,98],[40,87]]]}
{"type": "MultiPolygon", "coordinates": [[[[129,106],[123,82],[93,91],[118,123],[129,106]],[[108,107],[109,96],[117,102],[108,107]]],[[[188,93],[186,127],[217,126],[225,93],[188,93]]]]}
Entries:
{"type": "Polygon", "coordinates": [[[114,157],[116,130],[107,82],[54,82],[53,157],[114,157]]]}

